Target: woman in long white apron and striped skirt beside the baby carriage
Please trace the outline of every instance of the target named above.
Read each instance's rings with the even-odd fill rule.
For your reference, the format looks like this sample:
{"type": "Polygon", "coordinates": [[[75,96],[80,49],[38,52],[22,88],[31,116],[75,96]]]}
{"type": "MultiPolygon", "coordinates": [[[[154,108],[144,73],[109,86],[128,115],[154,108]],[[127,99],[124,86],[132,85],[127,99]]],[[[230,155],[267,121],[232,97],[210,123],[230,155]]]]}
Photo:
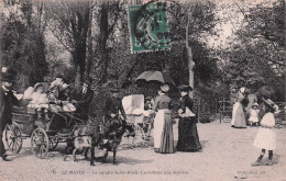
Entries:
{"type": "Polygon", "coordinates": [[[154,120],[154,149],[162,154],[175,152],[170,98],[166,95],[168,90],[167,84],[161,87],[153,106],[153,111],[157,112],[154,120]]]}

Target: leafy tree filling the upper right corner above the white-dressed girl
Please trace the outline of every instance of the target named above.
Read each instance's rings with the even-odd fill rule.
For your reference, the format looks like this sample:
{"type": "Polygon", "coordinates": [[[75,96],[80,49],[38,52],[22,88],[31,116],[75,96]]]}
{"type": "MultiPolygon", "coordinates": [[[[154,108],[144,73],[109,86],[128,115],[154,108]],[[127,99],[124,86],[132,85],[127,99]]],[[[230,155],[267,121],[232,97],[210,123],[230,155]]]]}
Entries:
{"type": "Polygon", "coordinates": [[[246,10],[237,4],[243,14],[243,24],[235,32],[235,44],[221,54],[226,60],[226,81],[234,87],[246,86],[257,90],[263,84],[282,92],[279,67],[285,65],[285,2],[261,2],[246,10]]]}

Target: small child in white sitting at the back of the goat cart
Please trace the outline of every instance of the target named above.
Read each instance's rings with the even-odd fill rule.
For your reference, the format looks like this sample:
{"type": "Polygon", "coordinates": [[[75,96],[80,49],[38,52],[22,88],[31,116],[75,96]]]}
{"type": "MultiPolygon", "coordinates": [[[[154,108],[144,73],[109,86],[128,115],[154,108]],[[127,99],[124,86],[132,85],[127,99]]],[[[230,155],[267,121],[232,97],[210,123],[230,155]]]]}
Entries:
{"type": "Polygon", "coordinates": [[[46,93],[44,93],[44,86],[42,83],[36,83],[34,86],[33,93],[31,94],[32,101],[28,104],[28,108],[34,108],[37,113],[37,118],[42,116],[42,111],[44,112],[45,120],[48,120],[47,109],[48,100],[46,93]]]}

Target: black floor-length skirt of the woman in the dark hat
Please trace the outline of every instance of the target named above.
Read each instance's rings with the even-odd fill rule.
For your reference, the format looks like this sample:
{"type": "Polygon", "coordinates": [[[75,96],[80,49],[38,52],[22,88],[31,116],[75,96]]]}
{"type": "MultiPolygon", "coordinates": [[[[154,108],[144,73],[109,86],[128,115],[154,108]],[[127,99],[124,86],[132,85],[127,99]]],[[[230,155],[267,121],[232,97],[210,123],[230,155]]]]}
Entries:
{"type": "Polygon", "coordinates": [[[195,117],[180,117],[178,124],[177,151],[201,149],[195,117]]]}

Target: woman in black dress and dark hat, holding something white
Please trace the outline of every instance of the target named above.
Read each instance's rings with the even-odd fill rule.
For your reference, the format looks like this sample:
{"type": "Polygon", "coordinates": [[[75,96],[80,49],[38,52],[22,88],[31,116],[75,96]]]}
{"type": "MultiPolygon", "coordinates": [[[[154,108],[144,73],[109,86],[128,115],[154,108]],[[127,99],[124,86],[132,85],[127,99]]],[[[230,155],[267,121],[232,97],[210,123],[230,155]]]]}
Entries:
{"type": "Polygon", "coordinates": [[[199,136],[196,125],[196,115],[193,113],[194,101],[189,98],[188,92],[191,91],[189,86],[179,86],[180,92],[180,109],[178,110],[179,114],[179,124],[178,124],[178,151],[198,151],[201,149],[199,143],[199,136]]]}

